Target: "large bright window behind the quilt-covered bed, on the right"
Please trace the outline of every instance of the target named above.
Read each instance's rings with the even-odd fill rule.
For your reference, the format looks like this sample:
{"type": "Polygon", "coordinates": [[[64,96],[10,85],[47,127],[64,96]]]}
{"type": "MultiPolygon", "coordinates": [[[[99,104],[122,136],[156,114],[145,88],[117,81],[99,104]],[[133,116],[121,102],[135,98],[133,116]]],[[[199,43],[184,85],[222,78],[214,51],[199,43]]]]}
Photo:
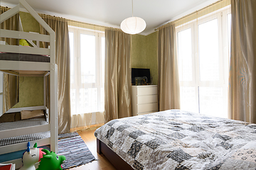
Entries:
{"type": "Polygon", "coordinates": [[[181,109],[228,118],[230,7],[176,28],[181,109]]]}

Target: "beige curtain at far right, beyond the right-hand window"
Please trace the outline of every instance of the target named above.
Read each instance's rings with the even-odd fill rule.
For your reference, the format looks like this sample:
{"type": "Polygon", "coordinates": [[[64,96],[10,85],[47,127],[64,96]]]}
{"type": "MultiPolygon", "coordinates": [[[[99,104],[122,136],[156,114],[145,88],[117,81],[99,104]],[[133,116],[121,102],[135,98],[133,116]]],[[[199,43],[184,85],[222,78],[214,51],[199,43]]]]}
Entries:
{"type": "Polygon", "coordinates": [[[256,123],[256,1],[231,1],[230,118],[256,123]]]}

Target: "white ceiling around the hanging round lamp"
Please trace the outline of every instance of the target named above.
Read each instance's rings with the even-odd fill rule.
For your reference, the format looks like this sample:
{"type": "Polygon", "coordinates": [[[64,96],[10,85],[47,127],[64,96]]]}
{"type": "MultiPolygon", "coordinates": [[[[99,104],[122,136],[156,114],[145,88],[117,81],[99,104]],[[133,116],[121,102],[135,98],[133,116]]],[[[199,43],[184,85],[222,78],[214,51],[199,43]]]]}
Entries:
{"type": "MultiPolygon", "coordinates": [[[[38,13],[119,28],[132,16],[132,0],[26,0],[38,13]]],[[[134,16],[146,21],[148,35],[164,23],[186,16],[218,0],[134,0],[134,16]]],[[[18,0],[0,0],[1,6],[14,7],[18,0]]]]}

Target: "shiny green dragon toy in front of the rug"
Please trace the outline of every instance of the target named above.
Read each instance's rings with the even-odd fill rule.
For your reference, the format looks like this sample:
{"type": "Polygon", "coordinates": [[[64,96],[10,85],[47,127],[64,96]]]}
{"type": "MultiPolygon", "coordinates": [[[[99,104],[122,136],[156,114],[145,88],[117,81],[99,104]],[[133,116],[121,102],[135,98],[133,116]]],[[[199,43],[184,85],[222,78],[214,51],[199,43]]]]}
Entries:
{"type": "Polygon", "coordinates": [[[50,152],[47,149],[42,149],[43,158],[41,158],[41,162],[36,170],[62,170],[61,164],[65,162],[65,156],[55,154],[55,152],[50,152]]]}

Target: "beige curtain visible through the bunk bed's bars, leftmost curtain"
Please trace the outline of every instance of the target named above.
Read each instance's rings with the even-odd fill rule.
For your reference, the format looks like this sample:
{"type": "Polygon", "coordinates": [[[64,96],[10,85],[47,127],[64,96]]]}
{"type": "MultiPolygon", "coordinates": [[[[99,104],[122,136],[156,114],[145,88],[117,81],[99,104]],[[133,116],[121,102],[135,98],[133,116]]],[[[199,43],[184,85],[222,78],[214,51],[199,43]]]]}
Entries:
{"type": "MultiPolygon", "coordinates": [[[[11,8],[0,6],[0,13],[4,13],[11,8]]],[[[18,30],[18,13],[1,23],[1,29],[4,30],[18,30]]],[[[1,38],[2,41],[7,42],[9,45],[18,45],[18,40],[14,38],[1,38]]],[[[4,73],[4,89],[3,89],[3,113],[18,103],[18,77],[4,73]]]]}

